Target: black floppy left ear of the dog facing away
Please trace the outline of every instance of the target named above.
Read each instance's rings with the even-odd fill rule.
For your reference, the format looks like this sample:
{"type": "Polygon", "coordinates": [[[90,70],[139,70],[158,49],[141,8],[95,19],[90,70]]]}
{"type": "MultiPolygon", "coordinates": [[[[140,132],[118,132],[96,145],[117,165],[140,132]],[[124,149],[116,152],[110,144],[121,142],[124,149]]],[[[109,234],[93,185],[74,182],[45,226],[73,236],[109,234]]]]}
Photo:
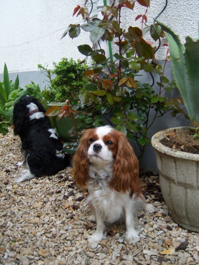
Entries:
{"type": "Polygon", "coordinates": [[[13,109],[14,134],[21,133],[24,127],[24,120],[27,117],[27,108],[24,101],[19,99],[13,109]]]}

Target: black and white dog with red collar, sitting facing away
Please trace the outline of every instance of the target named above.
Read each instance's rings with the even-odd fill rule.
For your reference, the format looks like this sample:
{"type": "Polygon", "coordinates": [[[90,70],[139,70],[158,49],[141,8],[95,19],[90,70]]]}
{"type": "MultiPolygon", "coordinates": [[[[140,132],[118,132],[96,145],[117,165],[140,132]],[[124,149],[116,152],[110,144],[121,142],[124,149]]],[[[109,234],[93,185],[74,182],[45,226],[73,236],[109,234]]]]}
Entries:
{"type": "Polygon", "coordinates": [[[52,128],[46,110],[32,96],[22,96],[14,105],[14,134],[21,139],[21,151],[26,165],[21,182],[39,175],[53,175],[69,165],[68,156],[60,152],[63,148],[56,130],[52,128]]]}

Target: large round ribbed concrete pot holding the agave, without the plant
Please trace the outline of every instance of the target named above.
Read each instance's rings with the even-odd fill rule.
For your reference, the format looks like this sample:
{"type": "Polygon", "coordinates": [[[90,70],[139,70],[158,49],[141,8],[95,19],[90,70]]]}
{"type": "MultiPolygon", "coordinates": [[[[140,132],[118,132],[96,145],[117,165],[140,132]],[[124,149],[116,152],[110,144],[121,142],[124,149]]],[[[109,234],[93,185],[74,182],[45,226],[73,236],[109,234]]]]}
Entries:
{"type": "Polygon", "coordinates": [[[178,132],[187,127],[166,129],[151,139],[160,186],[173,220],[185,229],[199,232],[199,155],[176,151],[160,143],[174,129],[178,132]]]}

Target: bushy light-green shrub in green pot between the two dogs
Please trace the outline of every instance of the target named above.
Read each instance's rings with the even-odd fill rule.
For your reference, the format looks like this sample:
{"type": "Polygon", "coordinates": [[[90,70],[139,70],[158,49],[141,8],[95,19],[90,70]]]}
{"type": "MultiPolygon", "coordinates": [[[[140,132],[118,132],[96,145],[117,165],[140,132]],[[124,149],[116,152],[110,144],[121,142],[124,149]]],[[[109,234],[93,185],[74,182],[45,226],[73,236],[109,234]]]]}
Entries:
{"type": "MultiPolygon", "coordinates": [[[[42,91],[45,101],[48,103],[47,107],[56,106],[59,109],[67,105],[66,101],[76,105],[77,95],[81,91],[84,91],[87,83],[83,75],[87,69],[86,64],[79,64],[79,61],[76,62],[72,58],[70,60],[62,58],[58,64],[53,63],[53,65],[55,69],[51,71],[47,67],[38,64],[41,72],[46,73],[48,77],[46,81],[49,85],[45,86],[45,89],[42,91]],[[55,75],[55,77],[52,78],[52,75],[55,75]]],[[[53,116],[53,123],[59,137],[63,141],[77,139],[75,134],[70,133],[70,130],[74,127],[74,120],[72,120],[70,115],[64,119],[56,119],[53,116]]],[[[76,123],[78,123],[77,119],[76,123]]]]}

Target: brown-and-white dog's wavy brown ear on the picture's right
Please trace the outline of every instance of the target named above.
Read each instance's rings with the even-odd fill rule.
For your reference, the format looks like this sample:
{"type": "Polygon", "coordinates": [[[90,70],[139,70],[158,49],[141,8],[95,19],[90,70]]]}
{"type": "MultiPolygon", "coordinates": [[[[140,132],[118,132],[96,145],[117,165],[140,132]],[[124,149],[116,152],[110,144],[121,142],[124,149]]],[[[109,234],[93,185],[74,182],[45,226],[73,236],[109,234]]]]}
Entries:
{"type": "Polygon", "coordinates": [[[118,192],[141,193],[139,185],[139,163],[133,148],[121,132],[115,131],[118,138],[118,150],[113,162],[113,179],[110,185],[118,192]]]}

